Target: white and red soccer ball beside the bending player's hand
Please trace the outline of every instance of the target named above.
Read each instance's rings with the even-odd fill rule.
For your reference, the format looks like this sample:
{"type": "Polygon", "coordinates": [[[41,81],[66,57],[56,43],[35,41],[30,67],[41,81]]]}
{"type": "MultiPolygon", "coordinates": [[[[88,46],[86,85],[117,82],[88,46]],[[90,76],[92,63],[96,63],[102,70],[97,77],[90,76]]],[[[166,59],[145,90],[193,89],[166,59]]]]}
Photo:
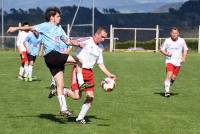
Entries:
{"type": "Polygon", "coordinates": [[[101,87],[104,91],[110,92],[115,87],[115,80],[107,77],[107,78],[105,78],[104,80],[101,81],[101,87]]]}

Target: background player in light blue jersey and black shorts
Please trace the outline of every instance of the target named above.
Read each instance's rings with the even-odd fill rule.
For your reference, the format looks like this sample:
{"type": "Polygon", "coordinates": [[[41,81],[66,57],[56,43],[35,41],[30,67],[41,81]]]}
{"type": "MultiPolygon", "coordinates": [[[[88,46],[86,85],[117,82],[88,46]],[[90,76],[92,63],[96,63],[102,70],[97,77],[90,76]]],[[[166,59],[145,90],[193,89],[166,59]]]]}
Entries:
{"type": "Polygon", "coordinates": [[[36,31],[32,31],[24,41],[28,57],[28,71],[26,72],[27,77],[24,78],[25,81],[32,81],[33,64],[35,63],[36,56],[39,54],[40,48],[42,47],[41,41],[42,37],[36,31]]]}

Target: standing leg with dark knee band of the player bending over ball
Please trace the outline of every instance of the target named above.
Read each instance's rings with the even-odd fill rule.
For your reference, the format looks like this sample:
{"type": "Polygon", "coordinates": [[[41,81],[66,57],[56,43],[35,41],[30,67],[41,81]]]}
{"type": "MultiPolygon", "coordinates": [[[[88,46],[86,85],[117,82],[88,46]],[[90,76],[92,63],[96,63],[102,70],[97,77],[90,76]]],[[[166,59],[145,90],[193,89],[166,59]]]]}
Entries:
{"type": "Polygon", "coordinates": [[[81,111],[76,118],[76,122],[80,124],[86,124],[84,117],[86,116],[88,110],[90,109],[92,102],[94,100],[94,91],[86,91],[86,99],[81,107],[81,111]]]}

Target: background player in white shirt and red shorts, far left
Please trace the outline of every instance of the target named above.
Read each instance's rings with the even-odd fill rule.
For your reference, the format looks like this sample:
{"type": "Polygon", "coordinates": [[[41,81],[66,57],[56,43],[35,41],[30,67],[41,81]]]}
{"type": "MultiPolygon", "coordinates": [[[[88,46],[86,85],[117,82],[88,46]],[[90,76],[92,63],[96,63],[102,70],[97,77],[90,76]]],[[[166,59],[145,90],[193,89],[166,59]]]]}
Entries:
{"type": "MultiPolygon", "coordinates": [[[[24,22],[22,26],[28,27],[29,23],[24,22]]],[[[24,46],[24,40],[29,34],[30,34],[29,30],[22,30],[22,31],[19,31],[18,36],[17,36],[17,49],[21,57],[21,66],[19,69],[18,79],[21,79],[21,80],[23,80],[24,77],[26,77],[25,72],[27,72],[28,70],[28,58],[27,58],[26,47],[24,46]]]]}

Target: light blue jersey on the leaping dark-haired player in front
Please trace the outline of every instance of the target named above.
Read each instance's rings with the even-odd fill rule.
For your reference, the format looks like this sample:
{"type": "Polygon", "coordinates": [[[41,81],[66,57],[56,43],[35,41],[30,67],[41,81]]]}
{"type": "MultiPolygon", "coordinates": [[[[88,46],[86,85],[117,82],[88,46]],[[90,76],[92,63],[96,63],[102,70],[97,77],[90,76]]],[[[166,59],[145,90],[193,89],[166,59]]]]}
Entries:
{"type": "Polygon", "coordinates": [[[44,22],[34,26],[34,28],[42,36],[45,55],[53,50],[60,52],[61,44],[64,43],[61,39],[67,38],[61,25],[56,26],[50,22],[44,22]]]}

